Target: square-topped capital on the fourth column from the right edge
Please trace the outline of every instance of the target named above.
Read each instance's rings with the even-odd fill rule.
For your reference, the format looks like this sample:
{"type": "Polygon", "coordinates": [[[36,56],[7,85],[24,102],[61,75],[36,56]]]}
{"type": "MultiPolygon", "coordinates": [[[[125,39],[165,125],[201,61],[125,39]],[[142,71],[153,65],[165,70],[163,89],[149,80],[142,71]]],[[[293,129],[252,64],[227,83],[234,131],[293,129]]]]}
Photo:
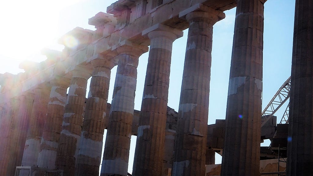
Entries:
{"type": "Polygon", "coordinates": [[[154,39],[158,37],[166,37],[168,39],[178,39],[183,36],[183,32],[181,30],[177,30],[175,28],[171,28],[164,24],[157,23],[150,28],[147,28],[142,31],[143,36],[148,36],[149,39],[154,39]]]}

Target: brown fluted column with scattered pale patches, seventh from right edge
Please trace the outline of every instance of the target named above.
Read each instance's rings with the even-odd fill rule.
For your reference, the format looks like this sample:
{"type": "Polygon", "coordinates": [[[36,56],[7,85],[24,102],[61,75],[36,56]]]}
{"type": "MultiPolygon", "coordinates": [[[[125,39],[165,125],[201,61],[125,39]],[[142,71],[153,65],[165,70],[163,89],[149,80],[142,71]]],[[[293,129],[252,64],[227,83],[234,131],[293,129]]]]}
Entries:
{"type": "Polygon", "coordinates": [[[87,80],[90,78],[90,70],[79,67],[74,70],[69,85],[63,122],[58,142],[55,165],[63,170],[64,175],[74,175],[78,155],[81,127],[85,111],[87,80]]]}

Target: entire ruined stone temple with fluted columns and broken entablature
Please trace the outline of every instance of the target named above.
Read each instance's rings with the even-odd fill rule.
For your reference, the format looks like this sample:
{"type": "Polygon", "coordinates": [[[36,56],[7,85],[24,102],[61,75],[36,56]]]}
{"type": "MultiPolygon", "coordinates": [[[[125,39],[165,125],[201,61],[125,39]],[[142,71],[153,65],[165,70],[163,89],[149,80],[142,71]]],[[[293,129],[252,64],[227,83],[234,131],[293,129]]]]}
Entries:
{"type": "Polygon", "coordinates": [[[312,175],[313,3],[296,0],[291,79],[284,85],[290,113],[286,124],[276,124],[275,116],[261,117],[265,2],[118,0],[89,19],[95,31],[77,27],[59,40],[74,37],[77,47],[45,50],[47,60],[20,65],[24,73],[1,74],[0,175],[127,176],[131,135],[134,176],[312,175]],[[234,7],[226,120],[208,125],[213,25],[234,7]],[[187,28],[175,112],[167,107],[172,43],[187,28]],[[148,51],[136,111],[138,58],[148,51]],[[264,139],[272,148],[260,148],[264,139]]]}

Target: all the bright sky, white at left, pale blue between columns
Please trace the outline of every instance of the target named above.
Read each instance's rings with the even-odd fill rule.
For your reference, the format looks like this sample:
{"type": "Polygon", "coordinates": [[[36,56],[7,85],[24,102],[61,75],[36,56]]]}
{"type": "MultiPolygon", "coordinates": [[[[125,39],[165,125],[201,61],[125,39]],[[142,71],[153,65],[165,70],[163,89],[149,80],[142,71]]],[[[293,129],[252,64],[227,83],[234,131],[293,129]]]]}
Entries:
{"type": "MultiPolygon", "coordinates": [[[[95,30],[88,18],[115,0],[40,0],[5,2],[0,7],[0,73],[17,74],[23,60],[40,62],[41,48],[62,49],[56,40],[76,26],[95,30]]],[[[290,76],[295,0],[268,0],[264,8],[263,108],[290,76]]],[[[226,18],[213,26],[212,67],[208,124],[225,119],[236,9],[225,11],[226,18]]],[[[178,111],[188,31],[173,43],[168,106],[178,111]]],[[[135,109],[140,110],[148,53],[139,59],[135,109]]],[[[111,101],[116,67],[112,70],[111,101]]],[[[285,106],[276,113],[280,120],[285,106]]],[[[135,139],[132,139],[134,143],[135,139]]],[[[136,142],[136,141],[135,141],[136,142]]],[[[132,144],[134,145],[134,144],[132,144]]],[[[262,145],[268,145],[267,143],[262,145]]],[[[133,154],[133,153],[131,153],[133,154]]],[[[217,158],[220,163],[220,158],[217,158]]],[[[131,165],[129,167],[131,172],[131,165]]]]}

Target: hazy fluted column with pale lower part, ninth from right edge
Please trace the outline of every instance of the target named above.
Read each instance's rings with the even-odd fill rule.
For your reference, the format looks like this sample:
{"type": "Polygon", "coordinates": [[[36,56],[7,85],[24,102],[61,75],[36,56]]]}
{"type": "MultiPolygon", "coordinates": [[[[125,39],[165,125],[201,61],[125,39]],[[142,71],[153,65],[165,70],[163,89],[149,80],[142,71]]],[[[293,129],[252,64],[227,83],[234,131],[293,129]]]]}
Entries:
{"type": "Polygon", "coordinates": [[[34,89],[35,97],[32,116],[29,121],[28,134],[22,158],[23,166],[37,166],[50,89],[50,87],[34,89]]]}

